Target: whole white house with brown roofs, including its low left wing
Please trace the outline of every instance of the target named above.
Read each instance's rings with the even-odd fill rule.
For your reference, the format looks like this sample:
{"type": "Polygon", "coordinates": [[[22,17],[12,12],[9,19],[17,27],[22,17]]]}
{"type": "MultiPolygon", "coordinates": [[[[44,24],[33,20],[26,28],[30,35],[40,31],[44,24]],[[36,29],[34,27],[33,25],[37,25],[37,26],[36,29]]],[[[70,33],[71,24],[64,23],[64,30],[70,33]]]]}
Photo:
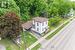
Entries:
{"type": "Polygon", "coordinates": [[[43,17],[35,17],[32,21],[22,24],[23,30],[32,30],[37,33],[43,33],[48,29],[48,19],[43,17]]]}

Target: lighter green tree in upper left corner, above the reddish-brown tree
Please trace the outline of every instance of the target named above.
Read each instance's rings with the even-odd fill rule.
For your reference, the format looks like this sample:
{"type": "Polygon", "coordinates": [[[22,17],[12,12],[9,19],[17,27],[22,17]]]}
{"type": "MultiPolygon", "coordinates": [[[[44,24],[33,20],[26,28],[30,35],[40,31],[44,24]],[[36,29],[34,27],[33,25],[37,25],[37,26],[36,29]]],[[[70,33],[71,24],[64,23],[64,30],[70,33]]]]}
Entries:
{"type": "Polygon", "coordinates": [[[16,2],[14,0],[0,0],[0,16],[10,11],[15,12],[19,15],[20,9],[16,5],[16,2]]]}

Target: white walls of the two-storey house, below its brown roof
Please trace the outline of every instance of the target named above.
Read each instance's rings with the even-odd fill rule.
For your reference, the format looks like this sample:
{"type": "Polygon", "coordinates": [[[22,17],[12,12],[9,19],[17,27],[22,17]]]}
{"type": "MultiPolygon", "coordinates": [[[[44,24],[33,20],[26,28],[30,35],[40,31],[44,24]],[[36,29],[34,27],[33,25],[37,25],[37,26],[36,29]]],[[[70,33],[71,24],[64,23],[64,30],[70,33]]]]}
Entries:
{"type": "Polygon", "coordinates": [[[38,32],[40,34],[43,33],[46,30],[46,28],[48,27],[48,21],[43,22],[43,23],[33,21],[33,24],[35,25],[35,29],[32,28],[32,30],[35,32],[38,32]],[[38,26],[37,26],[37,23],[38,23],[38,26]],[[38,31],[37,31],[37,28],[39,29],[38,31]]]}

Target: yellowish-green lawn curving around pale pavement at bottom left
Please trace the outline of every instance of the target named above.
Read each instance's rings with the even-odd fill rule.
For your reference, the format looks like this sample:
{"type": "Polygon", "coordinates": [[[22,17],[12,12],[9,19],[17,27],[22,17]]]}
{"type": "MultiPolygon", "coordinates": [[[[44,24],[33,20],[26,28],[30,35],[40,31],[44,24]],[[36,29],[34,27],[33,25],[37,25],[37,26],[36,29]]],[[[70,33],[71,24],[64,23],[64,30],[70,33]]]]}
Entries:
{"type": "Polygon", "coordinates": [[[6,47],[6,50],[19,50],[19,47],[17,45],[15,45],[9,39],[2,39],[2,40],[0,40],[0,44],[4,45],[6,47]]]}

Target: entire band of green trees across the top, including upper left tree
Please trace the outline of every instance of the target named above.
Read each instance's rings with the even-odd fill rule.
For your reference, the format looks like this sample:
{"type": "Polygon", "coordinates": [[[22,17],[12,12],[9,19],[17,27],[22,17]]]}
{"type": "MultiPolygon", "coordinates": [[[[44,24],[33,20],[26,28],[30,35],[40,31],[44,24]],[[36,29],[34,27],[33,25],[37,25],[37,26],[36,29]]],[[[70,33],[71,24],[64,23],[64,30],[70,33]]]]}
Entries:
{"type": "Polygon", "coordinates": [[[70,0],[0,0],[0,16],[12,11],[23,21],[36,16],[64,17],[71,8],[75,9],[75,3],[70,0]]]}

